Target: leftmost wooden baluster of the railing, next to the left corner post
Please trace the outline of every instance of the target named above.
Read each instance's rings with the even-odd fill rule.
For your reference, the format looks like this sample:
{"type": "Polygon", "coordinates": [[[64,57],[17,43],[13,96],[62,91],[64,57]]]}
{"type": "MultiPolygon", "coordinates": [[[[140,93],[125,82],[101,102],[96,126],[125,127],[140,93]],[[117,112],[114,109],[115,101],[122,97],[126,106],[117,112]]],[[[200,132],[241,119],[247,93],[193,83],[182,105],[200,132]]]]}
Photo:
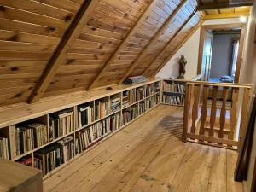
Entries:
{"type": "Polygon", "coordinates": [[[198,118],[198,103],[199,103],[199,94],[200,94],[200,85],[195,85],[194,88],[194,103],[192,107],[192,126],[191,126],[191,133],[195,133],[196,129],[196,121],[198,118]]]}

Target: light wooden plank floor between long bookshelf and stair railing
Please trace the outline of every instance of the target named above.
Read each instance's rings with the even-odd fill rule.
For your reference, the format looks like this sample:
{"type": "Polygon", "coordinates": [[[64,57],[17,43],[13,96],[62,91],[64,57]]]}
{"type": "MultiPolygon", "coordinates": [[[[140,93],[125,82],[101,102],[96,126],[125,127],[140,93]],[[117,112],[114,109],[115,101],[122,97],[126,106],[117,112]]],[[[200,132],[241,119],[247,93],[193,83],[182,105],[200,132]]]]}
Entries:
{"type": "Polygon", "coordinates": [[[181,110],[148,112],[45,180],[44,191],[241,192],[233,181],[236,152],[182,143],[173,120],[181,110]]]}

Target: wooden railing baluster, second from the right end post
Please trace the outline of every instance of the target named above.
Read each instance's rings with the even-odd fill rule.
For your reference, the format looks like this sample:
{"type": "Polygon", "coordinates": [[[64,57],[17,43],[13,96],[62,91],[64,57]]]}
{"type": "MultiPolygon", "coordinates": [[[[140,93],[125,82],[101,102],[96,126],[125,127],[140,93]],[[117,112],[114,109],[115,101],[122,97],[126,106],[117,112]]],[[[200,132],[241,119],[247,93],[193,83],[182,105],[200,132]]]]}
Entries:
{"type": "Polygon", "coordinates": [[[218,131],[218,138],[223,138],[224,137],[224,125],[226,122],[226,102],[228,99],[228,95],[229,95],[229,88],[228,87],[224,87],[223,91],[222,91],[222,107],[221,107],[221,111],[220,111],[220,118],[219,118],[219,131],[218,131]]]}

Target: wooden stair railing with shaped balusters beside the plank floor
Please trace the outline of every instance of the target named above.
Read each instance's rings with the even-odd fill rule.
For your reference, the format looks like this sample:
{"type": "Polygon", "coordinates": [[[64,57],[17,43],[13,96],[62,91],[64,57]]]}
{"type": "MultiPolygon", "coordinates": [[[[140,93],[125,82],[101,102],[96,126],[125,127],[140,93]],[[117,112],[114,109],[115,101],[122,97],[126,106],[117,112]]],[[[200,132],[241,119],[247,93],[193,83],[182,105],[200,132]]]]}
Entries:
{"type": "Polygon", "coordinates": [[[249,84],[188,82],[183,142],[236,149],[247,118],[250,90],[249,84]]]}

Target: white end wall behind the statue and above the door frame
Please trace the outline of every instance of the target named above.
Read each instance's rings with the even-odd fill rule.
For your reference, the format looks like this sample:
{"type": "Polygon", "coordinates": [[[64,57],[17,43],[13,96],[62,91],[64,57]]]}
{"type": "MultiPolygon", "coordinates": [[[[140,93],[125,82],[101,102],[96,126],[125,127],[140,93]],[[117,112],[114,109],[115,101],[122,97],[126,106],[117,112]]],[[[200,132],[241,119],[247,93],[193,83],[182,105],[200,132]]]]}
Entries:
{"type": "MultiPolygon", "coordinates": [[[[218,19],[218,20],[206,20],[203,25],[217,25],[217,24],[230,24],[241,23],[239,18],[232,19],[218,19]]],[[[178,63],[180,55],[184,55],[188,61],[186,66],[185,79],[192,79],[197,74],[197,62],[199,54],[199,41],[200,41],[200,28],[189,38],[189,40],[183,44],[183,47],[173,55],[172,59],[166,63],[156,77],[160,78],[176,78],[178,76],[178,63]]]]}

